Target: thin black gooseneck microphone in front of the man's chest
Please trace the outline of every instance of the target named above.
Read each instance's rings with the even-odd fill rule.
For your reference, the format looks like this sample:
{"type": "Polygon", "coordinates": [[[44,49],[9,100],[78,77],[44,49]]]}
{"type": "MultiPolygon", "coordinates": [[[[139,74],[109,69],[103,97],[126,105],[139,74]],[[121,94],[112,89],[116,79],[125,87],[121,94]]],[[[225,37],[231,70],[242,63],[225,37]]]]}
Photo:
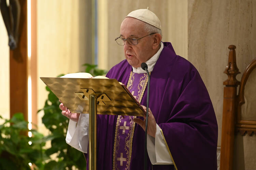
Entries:
{"type": "Polygon", "coordinates": [[[147,109],[146,109],[146,123],[145,123],[145,154],[144,154],[144,170],[147,168],[147,118],[148,118],[148,99],[149,99],[149,90],[150,90],[150,74],[147,70],[147,64],[141,63],[141,68],[147,72],[148,81],[147,81],[147,109]]]}

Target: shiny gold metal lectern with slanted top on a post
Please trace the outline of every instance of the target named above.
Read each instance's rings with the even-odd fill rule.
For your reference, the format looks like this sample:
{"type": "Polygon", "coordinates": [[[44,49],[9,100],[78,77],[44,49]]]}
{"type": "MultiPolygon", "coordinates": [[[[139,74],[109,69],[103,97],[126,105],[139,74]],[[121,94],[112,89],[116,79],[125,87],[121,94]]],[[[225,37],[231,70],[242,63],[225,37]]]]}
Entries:
{"type": "Polygon", "coordinates": [[[116,79],[40,78],[72,113],[89,113],[89,170],[97,169],[97,114],[145,115],[116,79]]]}

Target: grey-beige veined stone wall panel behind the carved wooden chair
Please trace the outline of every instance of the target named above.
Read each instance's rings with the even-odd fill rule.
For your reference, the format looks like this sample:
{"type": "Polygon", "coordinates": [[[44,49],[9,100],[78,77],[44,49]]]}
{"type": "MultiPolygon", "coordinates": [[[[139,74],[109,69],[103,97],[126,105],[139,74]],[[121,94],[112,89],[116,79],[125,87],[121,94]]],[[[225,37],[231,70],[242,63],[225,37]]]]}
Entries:
{"type": "MultiPolygon", "coordinates": [[[[237,66],[243,73],[256,56],[255,0],[188,1],[188,60],[198,69],[212,100],[221,145],[223,74],[228,46],[236,45],[237,66]]],[[[241,79],[241,74],[237,76],[241,79]]]]}

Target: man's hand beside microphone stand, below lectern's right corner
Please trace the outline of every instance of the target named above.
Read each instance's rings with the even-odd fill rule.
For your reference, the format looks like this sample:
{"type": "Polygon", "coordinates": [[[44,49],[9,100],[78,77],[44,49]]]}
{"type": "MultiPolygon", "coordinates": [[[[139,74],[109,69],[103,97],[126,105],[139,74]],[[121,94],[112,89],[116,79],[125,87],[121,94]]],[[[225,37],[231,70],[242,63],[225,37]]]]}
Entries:
{"type": "MultiPolygon", "coordinates": [[[[142,106],[142,107],[146,111],[147,108],[145,106],[142,106]]],[[[144,117],[144,120],[141,120],[139,118],[134,118],[133,121],[139,124],[145,131],[146,116],[143,116],[143,117],[144,117]]],[[[148,108],[147,134],[154,138],[156,137],[156,120],[150,108],[148,108]]]]}

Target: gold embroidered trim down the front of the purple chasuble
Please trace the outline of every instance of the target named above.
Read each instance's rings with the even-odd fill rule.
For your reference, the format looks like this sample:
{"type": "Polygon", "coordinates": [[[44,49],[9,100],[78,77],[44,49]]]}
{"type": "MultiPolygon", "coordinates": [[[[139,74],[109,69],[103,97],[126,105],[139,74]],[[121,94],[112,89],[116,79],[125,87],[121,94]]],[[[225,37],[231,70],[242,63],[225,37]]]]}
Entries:
{"type": "MultiPolygon", "coordinates": [[[[134,73],[131,72],[130,73],[130,77],[129,77],[129,80],[128,80],[128,83],[127,83],[127,88],[128,90],[130,90],[132,87],[133,87],[133,81],[134,81],[134,73]]],[[[136,100],[140,103],[141,102],[141,99],[142,99],[142,96],[145,92],[145,89],[146,89],[146,86],[147,86],[147,81],[148,81],[148,77],[147,77],[147,74],[143,73],[142,74],[142,77],[140,77],[140,83],[138,84],[138,87],[137,87],[137,90],[138,90],[138,96],[133,96],[134,98],[136,98],[136,100]],[[146,79],[145,80],[142,80],[143,78],[145,78],[146,76],[146,79]]],[[[133,95],[133,93],[132,93],[133,95]]],[[[126,170],[129,170],[129,166],[130,166],[130,161],[131,161],[131,152],[132,152],[132,140],[133,140],[133,134],[134,134],[134,128],[135,128],[135,123],[133,122],[133,118],[136,118],[136,116],[129,116],[129,121],[130,121],[130,126],[129,126],[129,129],[127,129],[126,127],[123,127],[124,130],[127,129],[129,130],[128,132],[128,137],[129,138],[128,140],[125,141],[125,146],[120,146],[119,145],[119,141],[120,141],[120,137],[119,137],[119,129],[120,129],[120,122],[121,120],[123,119],[122,116],[118,115],[117,117],[117,120],[116,120],[116,129],[115,129],[115,140],[114,140],[114,151],[113,151],[113,170],[119,170],[116,165],[117,165],[117,162],[116,162],[116,152],[117,150],[120,148],[120,147],[125,147],[125,151],[127,153],[127,155],[129,155],[128,157],[128,164],[126,164],[126,167],[125,169],[126,170]]],[[[124,125],[125,126],[125,125],[124,125]]],[[[123,132],[124,132],[123,130],[123,132]]],[[[125,131],[126,132],[126,131],[125,131]]],[[[126,139],[127,139],[126,138],[126,139]]],[[[126,159],[127,160],[127,159],[126,159]]]]}

